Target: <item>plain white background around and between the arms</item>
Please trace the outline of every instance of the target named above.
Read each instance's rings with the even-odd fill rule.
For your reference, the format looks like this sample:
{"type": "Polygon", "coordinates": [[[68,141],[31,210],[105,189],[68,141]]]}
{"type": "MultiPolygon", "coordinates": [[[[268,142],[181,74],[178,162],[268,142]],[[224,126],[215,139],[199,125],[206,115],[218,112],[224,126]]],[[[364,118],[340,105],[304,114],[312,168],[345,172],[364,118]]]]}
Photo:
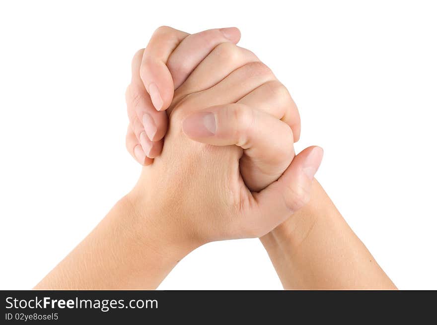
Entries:
{"type": "MultiPolygon", "coordinates": [[[[297,149],[401,289],[437,289],[437,11],[425,1],[2,1],[0,289],[29,289],[135,184],[124,102],[160,25],[237,26],[289,88],[297,149]]],[[[281,289],[258,240],[206,245],[160,289],[281,289]]]]}

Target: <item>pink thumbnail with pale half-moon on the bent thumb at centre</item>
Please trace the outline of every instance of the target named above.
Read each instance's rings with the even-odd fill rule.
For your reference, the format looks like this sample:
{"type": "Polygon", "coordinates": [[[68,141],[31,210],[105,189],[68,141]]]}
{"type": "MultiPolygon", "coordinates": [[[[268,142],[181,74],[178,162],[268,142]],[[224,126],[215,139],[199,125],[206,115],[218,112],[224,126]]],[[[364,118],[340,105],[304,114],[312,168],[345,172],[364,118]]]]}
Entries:
{"type": "Polygon", "coordinates": [[[193,137],[214,135],[216,134],[216,116],[210,112],[195,113],[184,120],[182,130],[193,137]]]}

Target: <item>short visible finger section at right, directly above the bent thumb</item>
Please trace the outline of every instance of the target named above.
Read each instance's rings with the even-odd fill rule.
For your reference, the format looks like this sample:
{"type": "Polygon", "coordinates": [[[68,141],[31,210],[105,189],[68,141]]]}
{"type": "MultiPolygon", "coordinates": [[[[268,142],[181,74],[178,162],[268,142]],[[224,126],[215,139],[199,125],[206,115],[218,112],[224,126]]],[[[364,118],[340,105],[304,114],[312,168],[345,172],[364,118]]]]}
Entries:
{"type": "Polygon", "coordinates": [[[278,80],[266,82],[241,98],[237,103],[264,111],[287,123],[293,131],[294,142],[300,136],[300,117],[287,87],[278,80]]]}

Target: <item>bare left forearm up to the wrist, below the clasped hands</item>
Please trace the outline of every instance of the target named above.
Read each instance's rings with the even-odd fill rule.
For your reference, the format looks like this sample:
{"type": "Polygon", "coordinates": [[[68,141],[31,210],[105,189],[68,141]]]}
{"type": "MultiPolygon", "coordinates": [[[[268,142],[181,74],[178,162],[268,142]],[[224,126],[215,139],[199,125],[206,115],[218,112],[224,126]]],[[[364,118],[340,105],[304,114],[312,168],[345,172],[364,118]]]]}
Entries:
{"type": "Polygon", "coordinates": [[[188,251],[139,213],[132,196],[117,202],[35,289],[155,289],[188,251]]]}

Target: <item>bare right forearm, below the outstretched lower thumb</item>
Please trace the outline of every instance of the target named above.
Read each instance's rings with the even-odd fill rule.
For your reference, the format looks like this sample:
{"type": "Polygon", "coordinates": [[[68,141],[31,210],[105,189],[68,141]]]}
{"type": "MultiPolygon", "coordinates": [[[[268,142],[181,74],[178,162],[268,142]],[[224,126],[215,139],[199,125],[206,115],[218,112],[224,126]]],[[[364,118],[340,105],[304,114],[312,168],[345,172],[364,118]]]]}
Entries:
{"type": "Polygon", "coordinates": [[[261,242],[285,289],[396,289],[315,180],[310,203],[261,242]]]}

